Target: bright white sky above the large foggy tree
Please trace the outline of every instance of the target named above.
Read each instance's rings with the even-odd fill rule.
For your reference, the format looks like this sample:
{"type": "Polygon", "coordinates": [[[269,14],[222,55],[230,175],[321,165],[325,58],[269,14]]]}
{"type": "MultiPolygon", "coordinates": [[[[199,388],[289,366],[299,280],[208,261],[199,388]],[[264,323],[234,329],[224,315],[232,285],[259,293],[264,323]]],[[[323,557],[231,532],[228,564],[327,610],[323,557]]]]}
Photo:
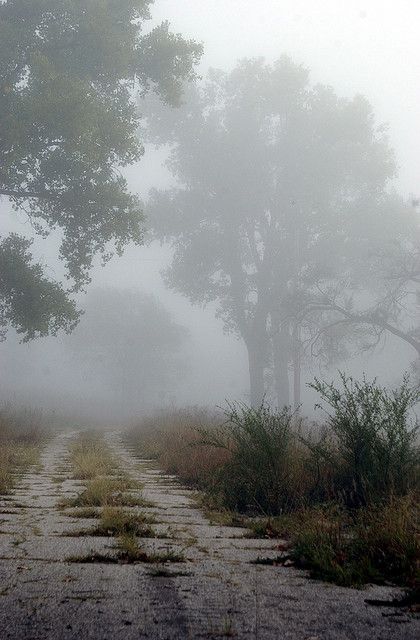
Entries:
{"type": "Polygon", "coordinates": [[[156,0],[156,21],[204,43],[203,72],[282,53],[390,124],[399,188],[420,192],[419,0],[156,0]]]}

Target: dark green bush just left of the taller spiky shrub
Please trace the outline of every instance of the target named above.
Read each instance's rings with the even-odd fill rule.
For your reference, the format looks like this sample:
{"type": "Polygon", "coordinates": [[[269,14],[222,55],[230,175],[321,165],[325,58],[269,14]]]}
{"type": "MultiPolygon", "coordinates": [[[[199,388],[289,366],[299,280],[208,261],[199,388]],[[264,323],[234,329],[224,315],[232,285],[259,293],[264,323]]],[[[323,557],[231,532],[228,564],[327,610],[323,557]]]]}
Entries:
{"type": "Polygon", "coordinates": [[[221,496],[224,506],[238,511],[277,514],[296,508],[303,490],[303,453],[290,409],[231,403],[225,415],[221,428],[200,431],[203,444],[230,453],[208,488],[221,496]]]}

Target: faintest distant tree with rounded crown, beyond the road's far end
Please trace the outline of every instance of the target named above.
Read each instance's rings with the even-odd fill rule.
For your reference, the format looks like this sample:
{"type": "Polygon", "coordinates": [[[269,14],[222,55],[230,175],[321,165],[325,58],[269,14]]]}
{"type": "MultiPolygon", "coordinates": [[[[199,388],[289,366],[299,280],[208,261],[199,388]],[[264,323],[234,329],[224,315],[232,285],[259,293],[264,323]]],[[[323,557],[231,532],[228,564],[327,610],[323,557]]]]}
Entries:
{"type": "Polygon", "coordinates": [[[176,391],[187,365],[188,331],[151,295],[93,289],[85,313],[65,339],[86,379],[101,384],[122,414],[161,402],[176,391]]]}

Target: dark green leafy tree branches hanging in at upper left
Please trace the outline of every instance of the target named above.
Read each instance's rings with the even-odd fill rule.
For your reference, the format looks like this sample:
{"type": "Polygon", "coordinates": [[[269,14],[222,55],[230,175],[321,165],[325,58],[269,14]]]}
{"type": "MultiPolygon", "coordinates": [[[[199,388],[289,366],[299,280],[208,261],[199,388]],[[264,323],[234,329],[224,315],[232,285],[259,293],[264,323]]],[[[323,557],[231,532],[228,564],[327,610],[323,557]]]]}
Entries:
{"type": "MultiPolygon", "coordinates": [[[[201,54],[166,22],[143,33],[152,4],[0,4],[0,198],[41,236],[62,232],[72,288],[88,281],[94,255],[142,241],[140,203],[120,173],[143,153],[135,90],[177,104],[201,54]]],[[[33,263],[29,241],[0,238],[0,265],[3,330],[29,339],[74,327],[75,305],[33,263]]]]}

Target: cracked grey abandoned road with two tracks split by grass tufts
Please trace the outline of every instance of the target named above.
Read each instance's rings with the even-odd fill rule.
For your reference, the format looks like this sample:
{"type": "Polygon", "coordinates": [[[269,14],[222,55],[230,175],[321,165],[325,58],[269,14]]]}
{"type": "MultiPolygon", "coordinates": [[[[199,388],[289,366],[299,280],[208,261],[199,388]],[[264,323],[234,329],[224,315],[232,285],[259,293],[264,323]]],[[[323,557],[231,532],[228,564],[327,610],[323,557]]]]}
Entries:
{"type": "Polygon", "coordinates": [[[77,435],[51,439],[39,467],[0,499],[2,640],[419,637],[418,619],[366,604],[390,600],[399,594],[394,588],[340,588],[293,567],[256,564],[276,558],[279,541],[211,523],[190,490],[137,459],[118,432],[106,432],[106,441],[150,503],[130,509],[156,522],[157,537],[141,547],[150,557],[174,552],[178,561],[105,561],[115,558],[115,540],[81,535],[92,519],[76,518],[61,504],[83,487],[68,460],[77,435]]]}

